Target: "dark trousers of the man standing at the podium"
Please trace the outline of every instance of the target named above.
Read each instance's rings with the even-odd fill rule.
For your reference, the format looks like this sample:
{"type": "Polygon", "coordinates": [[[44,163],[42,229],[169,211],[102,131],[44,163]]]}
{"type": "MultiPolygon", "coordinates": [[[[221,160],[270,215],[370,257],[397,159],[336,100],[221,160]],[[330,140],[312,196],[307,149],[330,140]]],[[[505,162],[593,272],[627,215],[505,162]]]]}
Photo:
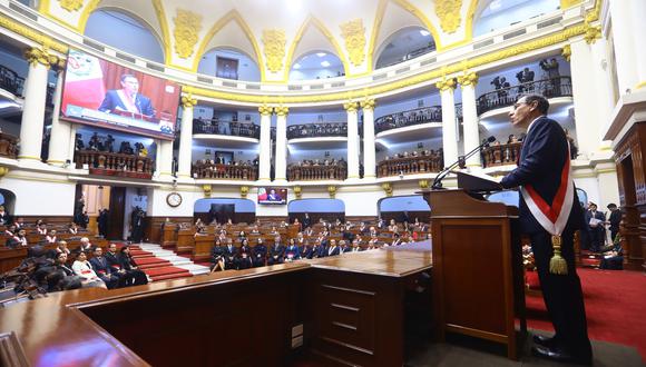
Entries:
{"type": "Polygon", "coordinates": [[[557,345],[576,356],[590,356],[581,282],[575,268],[572,230],[566,229],[561,240],[561,256],[568,265],[568,274],[565,276],[549,272],[549,260],[554,254],[551,235],[542,230],[530,235],[530,239],[542,297],[556,330],[557,345]]]}

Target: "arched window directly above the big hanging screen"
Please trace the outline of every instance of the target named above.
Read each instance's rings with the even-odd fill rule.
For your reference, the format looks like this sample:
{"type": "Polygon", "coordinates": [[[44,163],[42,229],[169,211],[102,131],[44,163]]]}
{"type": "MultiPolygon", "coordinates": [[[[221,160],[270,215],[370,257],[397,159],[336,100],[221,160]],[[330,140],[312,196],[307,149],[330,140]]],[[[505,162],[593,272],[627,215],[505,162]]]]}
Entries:
{"type": "Polygon", "coordinates": [[[94,11],[85,36],[124,52],[164,63],[164,48],[157,36],[138,18],[111,9],[94,11]]]}

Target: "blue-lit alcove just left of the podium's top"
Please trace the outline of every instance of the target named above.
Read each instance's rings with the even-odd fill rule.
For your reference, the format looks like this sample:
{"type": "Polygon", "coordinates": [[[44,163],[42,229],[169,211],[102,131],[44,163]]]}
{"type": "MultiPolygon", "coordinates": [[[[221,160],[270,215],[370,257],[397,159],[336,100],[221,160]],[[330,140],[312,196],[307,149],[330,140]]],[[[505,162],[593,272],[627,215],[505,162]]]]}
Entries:
{"type": "Polygon", "coordinates": [[[415,218],[421,222],[430,221],[431,208],[421,195],[383,198],[376,205],[379,216],[385,221],[403,222],[407,218],[409,222],[414,222],[415,218]]]}

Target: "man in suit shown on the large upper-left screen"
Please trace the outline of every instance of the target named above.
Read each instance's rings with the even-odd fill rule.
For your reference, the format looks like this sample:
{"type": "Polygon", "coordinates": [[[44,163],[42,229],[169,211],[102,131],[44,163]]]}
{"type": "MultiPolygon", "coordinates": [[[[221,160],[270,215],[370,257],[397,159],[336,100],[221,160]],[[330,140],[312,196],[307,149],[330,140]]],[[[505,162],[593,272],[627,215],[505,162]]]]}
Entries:
{"type": "Polygon", "coordinates": [[[112,89],[106,92],[106,97],[99,106],[99,111],[120,115],[120,112],[140,113],[155,117],[155,108],[150,99],[139,91],[139,80],[131,75],[121,76],[121,89],[112,89]]]}

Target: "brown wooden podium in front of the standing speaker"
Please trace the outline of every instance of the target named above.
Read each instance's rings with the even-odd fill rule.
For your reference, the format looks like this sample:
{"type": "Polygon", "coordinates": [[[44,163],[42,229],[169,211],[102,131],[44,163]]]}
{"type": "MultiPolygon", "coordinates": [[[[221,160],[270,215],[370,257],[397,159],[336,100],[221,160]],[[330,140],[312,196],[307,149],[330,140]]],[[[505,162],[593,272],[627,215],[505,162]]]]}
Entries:
{"type": "Polygon", "coordinates": [[[431,207],[433,313],[439,340],[457,333],[507,345],[527,333],[518,208],[462,189],[422,191],[431,207]]]}

